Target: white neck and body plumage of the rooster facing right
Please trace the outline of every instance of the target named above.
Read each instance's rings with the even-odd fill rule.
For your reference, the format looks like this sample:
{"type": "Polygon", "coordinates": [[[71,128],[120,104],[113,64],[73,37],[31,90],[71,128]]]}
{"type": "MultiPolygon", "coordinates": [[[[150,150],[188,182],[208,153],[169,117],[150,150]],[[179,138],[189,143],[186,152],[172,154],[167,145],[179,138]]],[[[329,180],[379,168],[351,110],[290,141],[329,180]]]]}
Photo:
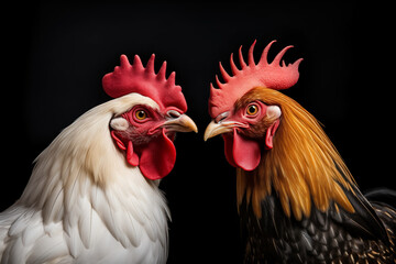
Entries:
{"type": "Polygon", "coordinates": [[[21,198],[0,213],[1,263],[165,263],[169,211],[158,180],[129,165],[109,123],[130,94],[66,128],[36,158],[21,198]]]}

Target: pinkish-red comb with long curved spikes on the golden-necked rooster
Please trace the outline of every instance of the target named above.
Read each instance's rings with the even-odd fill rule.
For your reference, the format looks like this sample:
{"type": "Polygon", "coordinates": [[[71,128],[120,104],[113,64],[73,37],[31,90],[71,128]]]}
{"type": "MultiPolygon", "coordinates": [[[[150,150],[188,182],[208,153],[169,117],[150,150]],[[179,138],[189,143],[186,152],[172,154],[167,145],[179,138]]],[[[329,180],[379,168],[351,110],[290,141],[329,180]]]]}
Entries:
{"type": "Polygon", "coordinates": [[[263,51],[260,62],[255,64],[253,50],[256,41],[253,42],[249,48],[248,64],[243,59],[242,46],[239,50],[239,61],[241,69],[239,69],[233,62],[233,54],[231,54],[230,65],[232,76],[230,76],[222,67],[221,63],[220,73],[224,80],[222,84],[216,75],[216,82],[219,88],[215,88],[210,84],[210,98],[209,98],[209,113],[216,118],[220,113],[228,111],[232,108],[233,103],[241,98],[246,91],[255,87],[266,87],[275,90],[287,89],[294,86],[299,77],[298,65],[302,58],[297,59],[294,64],[285,65],[282,61],[283,55],[293,46],[286,46],[268,63],[267,55],[270,47],[276,41],[272,41],[263,51]]]}

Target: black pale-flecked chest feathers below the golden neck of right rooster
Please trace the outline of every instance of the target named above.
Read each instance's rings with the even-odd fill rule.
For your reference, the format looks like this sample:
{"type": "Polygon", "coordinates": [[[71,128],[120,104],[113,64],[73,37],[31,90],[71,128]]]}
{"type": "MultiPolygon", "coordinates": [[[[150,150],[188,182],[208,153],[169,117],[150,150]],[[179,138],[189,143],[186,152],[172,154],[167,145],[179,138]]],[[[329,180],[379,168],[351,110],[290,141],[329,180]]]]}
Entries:
{"type": "Polygon", "coordinates": [[[396,261],[393,244],[362,231],[363,227],[354,222],[358,221],[356,216],[339,209],[334,204],[324,212],[315,208],[309,217],[301,220],[285,216],[276,195],[263,199],[261,207],[263,215],[260,219],[245,198],[239,207],[245,263],[396,261]]]}

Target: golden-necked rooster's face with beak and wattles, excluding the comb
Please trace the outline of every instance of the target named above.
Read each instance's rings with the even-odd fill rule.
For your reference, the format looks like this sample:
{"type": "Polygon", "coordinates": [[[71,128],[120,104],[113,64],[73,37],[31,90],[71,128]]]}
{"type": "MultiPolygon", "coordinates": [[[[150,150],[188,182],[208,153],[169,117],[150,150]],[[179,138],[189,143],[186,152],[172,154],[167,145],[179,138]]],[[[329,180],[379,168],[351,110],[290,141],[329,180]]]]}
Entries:
{"type": "Polygon", "coordinates": [[[273,147],[280,116],[278,106],[266,105],[252,89],[235,101],[233,109],[209,123],[205,141],[222,134],[227,161],[234,167],[253,170],[261,160],[261,146],[273,147]]]}

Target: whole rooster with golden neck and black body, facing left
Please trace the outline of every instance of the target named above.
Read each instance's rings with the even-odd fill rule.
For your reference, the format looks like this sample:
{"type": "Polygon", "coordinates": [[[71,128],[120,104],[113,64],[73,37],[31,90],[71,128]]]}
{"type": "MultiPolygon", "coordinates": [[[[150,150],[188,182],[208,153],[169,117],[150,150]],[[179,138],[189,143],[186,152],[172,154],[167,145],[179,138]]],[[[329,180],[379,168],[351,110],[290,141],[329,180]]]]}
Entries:
{"type": "Polygon", "coordinates": [[[395,263],[396,211],[369,201],[318,121],[277,91],[298,80],[301,58],[280,64],[282,50],[260,62],[241,48],[232,75],[211,85],[213,119],[205,140],[222,134],[237,167],[245,263],[395,263]]]}

